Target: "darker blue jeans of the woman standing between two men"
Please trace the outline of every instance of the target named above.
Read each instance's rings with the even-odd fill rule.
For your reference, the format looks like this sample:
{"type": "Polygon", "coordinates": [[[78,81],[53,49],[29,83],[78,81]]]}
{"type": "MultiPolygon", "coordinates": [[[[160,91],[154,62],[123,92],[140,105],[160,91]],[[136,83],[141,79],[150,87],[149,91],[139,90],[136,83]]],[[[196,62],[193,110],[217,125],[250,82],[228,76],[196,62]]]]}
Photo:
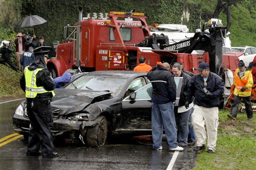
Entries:
{"type": "Polygon", "coordinates": [[[184,112],[175,113],[175,120],[177,125],[177,141],[187,145],[188,135],[188,119],[190,115],[190,109],[184,112]]]}

